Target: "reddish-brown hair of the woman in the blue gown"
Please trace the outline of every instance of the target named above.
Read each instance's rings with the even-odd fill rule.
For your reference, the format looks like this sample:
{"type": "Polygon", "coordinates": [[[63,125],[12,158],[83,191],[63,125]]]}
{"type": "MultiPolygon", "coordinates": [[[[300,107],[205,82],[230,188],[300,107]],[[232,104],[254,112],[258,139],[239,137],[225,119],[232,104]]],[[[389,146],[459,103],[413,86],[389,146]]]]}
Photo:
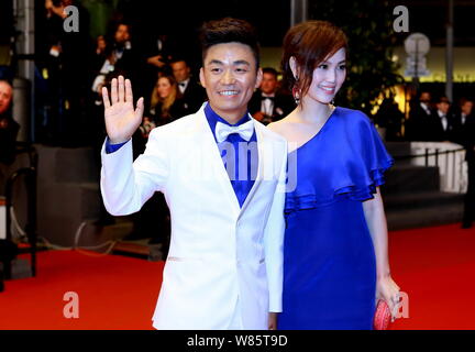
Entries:
{"type": "Polygon", "coordinates": [[[311,85],[313,69],[340,48],[347,51],[346,35],[341,29],[327,21],[307,21],[288,30],[284,37],[281,68],[288,88],[305,96],[311,85]],[[295,57],[297,73],[292,74],[290,57],[295,57]]]}

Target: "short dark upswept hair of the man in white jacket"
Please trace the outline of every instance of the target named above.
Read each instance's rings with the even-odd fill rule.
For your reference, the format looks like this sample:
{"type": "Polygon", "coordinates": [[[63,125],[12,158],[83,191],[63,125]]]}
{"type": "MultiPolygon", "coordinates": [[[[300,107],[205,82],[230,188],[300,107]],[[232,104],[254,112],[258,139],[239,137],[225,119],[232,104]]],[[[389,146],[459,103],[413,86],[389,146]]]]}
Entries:
{"type": "Polygon", "coordinates": [[[256,68],[261,65],[261,48],[257,34],[254,26],[247,21],[224,18],[206,22],[201,26],[200,41],[203,64],[207,52],[211,46],[225,43],[241,43],[251,47],[256,61],[256,68]]]}

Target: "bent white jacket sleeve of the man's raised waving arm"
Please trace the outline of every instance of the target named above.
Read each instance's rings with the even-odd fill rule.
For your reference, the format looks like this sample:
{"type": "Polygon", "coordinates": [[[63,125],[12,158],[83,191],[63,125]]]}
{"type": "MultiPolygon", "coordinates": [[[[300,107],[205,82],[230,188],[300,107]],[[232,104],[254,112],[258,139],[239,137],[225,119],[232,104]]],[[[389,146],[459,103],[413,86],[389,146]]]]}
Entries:
{"type": "Polygon", "coordinates": [[[164,191],[168,178],[167,142],[161,129],[148,135],[144,154],[132,163],[132,141],[101,158],[101,194],[106,209],[113,216],[139,211],[155,191],[164,191]]]}

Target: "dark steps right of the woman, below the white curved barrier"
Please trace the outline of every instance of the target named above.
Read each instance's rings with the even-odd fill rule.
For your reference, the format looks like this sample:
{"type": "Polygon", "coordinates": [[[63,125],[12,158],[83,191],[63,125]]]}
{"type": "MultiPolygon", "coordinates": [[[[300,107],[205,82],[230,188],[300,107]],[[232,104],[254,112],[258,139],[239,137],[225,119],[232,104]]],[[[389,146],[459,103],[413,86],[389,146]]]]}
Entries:
{"type": "Polygon", "coordinates": [[[389,230],[439,226],[462,221],[464,195],[440,191],[439,169],[416,166],[410,160],[410,143],[386,143],[396,163],[382,187],[389,230]]]}

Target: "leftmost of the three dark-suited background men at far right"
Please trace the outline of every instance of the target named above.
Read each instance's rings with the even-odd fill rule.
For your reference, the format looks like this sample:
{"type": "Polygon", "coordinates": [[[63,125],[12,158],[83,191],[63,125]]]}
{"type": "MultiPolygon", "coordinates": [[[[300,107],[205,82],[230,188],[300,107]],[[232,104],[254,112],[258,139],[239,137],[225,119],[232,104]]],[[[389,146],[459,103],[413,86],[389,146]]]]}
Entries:
{"type": "MultiPolygon", "coordinates": [[[[411,101],[412,102],[412,101],[411,101]]],[[[406,122],[406,140],[429,141],[429,122],[432,114],[431,94],[421,91],[419,99],[411,103],[409,119],[406,122]]]]}

